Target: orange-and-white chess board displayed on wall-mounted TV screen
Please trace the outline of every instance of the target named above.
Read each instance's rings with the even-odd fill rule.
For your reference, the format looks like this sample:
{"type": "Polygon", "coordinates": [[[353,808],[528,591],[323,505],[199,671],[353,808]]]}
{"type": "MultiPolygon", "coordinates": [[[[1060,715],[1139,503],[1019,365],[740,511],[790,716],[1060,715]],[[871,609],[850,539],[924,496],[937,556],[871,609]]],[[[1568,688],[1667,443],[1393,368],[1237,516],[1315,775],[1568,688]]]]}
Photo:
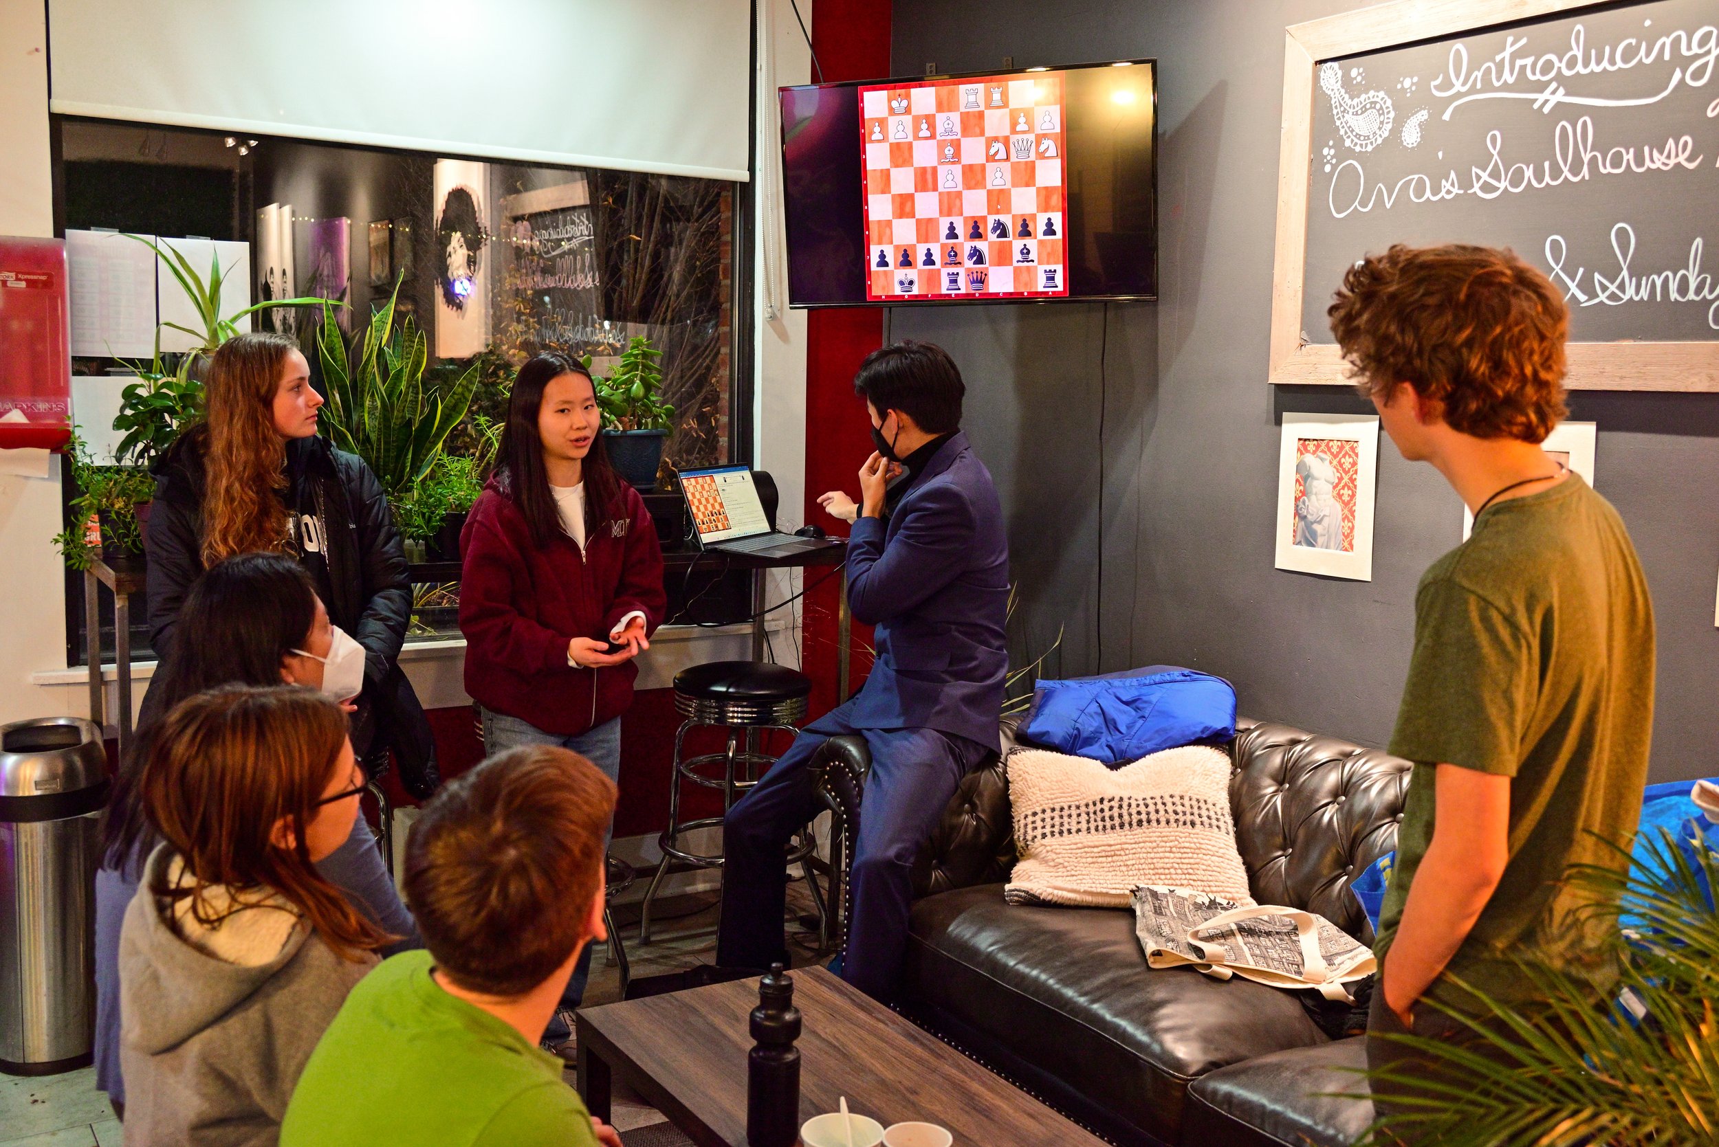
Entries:
{"type": "Polygon", "coordinates": [[[1062,299],[1057,72],[860,88],[868,302],[1062,299]]]}

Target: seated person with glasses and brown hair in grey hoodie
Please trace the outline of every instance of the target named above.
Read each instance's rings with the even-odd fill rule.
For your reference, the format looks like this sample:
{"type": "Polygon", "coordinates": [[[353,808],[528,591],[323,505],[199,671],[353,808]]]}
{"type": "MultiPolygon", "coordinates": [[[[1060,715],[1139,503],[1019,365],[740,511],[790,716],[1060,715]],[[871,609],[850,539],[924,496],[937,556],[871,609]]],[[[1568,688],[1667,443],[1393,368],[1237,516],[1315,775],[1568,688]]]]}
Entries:
{"type": "Polygon", "coordinates": [[[120,931],[125,1142],[272,1144],[392,939],[316,869],[364,792],[346,713],[294,685],[198,694],[162,721],[136,783],[162,843],[120,931]]]}

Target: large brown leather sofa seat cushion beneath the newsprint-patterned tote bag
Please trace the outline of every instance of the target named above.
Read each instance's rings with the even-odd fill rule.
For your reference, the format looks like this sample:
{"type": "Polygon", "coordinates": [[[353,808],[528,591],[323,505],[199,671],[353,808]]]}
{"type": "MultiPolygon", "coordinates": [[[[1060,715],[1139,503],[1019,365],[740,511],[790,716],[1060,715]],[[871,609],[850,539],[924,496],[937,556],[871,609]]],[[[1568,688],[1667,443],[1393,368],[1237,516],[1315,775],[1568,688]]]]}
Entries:
{"type": "Polygon", "coordinates": [[[1009,905],[1000,884],[913,905],[902,994],[1165,1142],[1190,1078],[1327,1042],[1293,992],[1150,970],[1131,912],[1009,905]]]}

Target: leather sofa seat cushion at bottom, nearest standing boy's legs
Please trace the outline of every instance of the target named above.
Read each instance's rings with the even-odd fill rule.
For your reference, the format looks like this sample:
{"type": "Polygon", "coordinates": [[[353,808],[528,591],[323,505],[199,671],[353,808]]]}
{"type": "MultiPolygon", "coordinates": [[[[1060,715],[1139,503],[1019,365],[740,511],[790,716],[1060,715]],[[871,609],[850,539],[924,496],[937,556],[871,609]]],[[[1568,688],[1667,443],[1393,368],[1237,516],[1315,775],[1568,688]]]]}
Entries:
{"type": "Polygon", "coordinates": [[[1212,1071],[1188,1089],[1188,1147],[1349,1147],[1373,1121],[1367,1039],[1293,1047],[1212,1071]]]}

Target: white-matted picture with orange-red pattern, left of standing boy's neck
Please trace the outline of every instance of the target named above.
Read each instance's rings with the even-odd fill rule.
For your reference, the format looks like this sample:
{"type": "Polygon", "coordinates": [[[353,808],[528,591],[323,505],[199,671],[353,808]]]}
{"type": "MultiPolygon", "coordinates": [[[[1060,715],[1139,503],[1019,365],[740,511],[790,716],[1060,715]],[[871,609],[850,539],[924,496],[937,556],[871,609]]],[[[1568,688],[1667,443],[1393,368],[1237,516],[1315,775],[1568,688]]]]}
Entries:
{"type": "Polygon", "coordinates": [[[1286,414],[1277,455],[1277,568],[1373,580],[1379,417],[1286,414]]]}

